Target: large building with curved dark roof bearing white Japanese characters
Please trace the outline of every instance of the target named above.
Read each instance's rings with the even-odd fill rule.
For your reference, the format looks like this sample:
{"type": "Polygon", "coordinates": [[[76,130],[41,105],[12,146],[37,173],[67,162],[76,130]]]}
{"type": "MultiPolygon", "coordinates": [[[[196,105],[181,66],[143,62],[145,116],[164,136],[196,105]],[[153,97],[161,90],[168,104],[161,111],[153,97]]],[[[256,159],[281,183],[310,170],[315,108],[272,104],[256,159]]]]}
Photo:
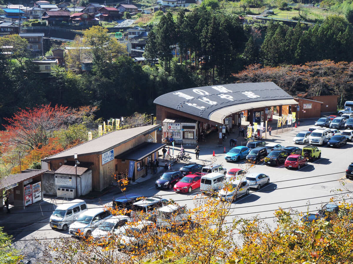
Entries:
{"type": "MultiPolygon", "coordinates": [[[[157,132],[157,142],[165,138],[164,132],[180,133],[180,139],[190,140],[191,134],[184,137],[182,122],[191,119],[183,126],[196,124],[194,139],[200,133],[217,130],[220,133],[219,144],[222,144],[222,126],[241,125],[242,111],[247,111],[247,121],[267,121],[267,113],[272,107],[288,106],[289,113],[297,111],[298,102],[273,82],[233,83],[222,86],[205,86],[170,92],[154,100],[156,104],[157,123],[163,123],[163,131],[157,132]],[[168,121],[175,120],[168,126],[168,121]],[[196,121],[196,122],[195,122],[196,121]],[[167,127],[165,124],[167,123],[167,127]],[[170,131],[169,127],[173,127],[170,131]],[[177,129],[180,127],[180,130],[177,129]],[[169,129],[168,129],[169,128],[169,129]]],[[[272,116],[272,115],[271,115],[272,116]]],[[[176,134],[174,134],[176,135],[176,134]]]]}

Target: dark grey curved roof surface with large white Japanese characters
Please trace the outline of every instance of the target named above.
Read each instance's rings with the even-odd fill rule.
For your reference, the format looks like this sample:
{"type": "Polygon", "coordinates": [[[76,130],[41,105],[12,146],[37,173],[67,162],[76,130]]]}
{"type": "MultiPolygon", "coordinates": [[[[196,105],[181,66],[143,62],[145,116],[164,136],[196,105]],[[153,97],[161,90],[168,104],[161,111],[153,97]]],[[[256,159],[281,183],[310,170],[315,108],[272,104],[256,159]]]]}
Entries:
{"type": "MultiPolygon", "coordinates": [[[[211,113],[229,106],[270,100],[273,102],[269,105],[276,105],[276,100],[285,99],[293,99],[293,97],[275,83],[257,82],[179,90],[159,96],[154,100],[154,103],[211,120],[211,113]]],[[[261,105],[261,103],[258,105],[261,105]]],[[[256,107],[257,105],[255,105],[256,107]]],[[[222,123],[220,120],[217,122],[222,123]]]]}

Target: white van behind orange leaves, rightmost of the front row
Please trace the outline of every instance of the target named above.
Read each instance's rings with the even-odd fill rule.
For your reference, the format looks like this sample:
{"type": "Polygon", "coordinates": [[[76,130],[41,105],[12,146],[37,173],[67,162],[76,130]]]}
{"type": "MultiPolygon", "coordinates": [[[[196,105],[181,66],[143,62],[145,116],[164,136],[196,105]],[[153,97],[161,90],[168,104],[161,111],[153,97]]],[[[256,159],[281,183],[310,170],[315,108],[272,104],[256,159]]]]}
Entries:
{"type": "Polygon", "coordinates": [[[185,224],[189,218],[185,206],[166,205],[158,208],[156,225],[170,229],[185,224]]]}

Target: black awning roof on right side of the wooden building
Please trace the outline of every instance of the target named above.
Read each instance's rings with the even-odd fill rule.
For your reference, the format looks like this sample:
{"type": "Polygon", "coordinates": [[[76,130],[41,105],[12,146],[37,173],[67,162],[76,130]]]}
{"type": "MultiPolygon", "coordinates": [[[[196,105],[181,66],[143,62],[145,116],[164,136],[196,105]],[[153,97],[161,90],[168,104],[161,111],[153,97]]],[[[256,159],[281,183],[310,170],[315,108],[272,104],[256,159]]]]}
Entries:
{"type": "Polygon", "coordinates": [[[162,147],[167,144],[162,143],[152,143],[145,142],[132,149],[125,151],[119,155],[116,155],[116,159],[127,159],[129,161],[140,161],[141,159],[147,157],[148,155],[154,153],[157,150],[160,150],[162,147]]]}

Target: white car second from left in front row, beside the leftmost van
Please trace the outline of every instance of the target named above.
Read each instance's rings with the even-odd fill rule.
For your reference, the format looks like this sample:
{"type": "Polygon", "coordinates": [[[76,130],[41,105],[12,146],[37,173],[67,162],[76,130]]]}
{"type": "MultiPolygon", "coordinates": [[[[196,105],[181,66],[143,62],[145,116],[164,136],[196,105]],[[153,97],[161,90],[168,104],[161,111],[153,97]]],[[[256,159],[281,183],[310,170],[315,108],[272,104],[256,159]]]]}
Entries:
{"type": "Polygon", "coordinates": [[[104,208],[88,209],[70,225],[69,233],[73,236],[88,237],[102,222],[111,217],[112,214],[104,208]]]}

